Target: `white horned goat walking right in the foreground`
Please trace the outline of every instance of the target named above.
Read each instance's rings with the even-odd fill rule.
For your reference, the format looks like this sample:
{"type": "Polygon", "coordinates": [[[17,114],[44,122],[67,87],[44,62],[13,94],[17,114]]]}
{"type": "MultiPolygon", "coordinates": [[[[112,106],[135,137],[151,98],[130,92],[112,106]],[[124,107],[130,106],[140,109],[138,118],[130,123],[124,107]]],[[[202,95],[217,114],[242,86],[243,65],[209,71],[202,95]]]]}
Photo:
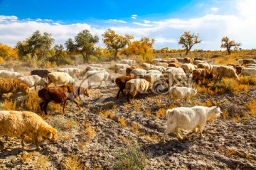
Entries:
{"type": "Polygon", "coordinates": [[[220,113],[222,112],[218,105],[212,107],[194,106],[192,108],[168,109],[166,111],[167,127],[161,142],[165,142],[165,138],[170,132],[174,132],[179,139],[182,139],[183,137],[179,134],[179,129],[200,132],[201,136],[203,136],[202,132],[206,126],[206,121],[220,117],[220,113]],[[198,129],[199,131],[197,131],[198,129]]]}

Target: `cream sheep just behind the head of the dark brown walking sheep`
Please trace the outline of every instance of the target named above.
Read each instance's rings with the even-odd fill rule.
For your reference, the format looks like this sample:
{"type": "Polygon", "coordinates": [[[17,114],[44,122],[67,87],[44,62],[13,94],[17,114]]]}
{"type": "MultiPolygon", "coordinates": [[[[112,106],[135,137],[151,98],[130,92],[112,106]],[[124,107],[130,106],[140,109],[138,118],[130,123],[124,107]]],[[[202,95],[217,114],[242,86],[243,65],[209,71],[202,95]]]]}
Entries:
{"type": "Polygon", "coordinates": [[[100,82],[100,86],[102,85],[102,81],[105,81],[106,85],[107,85],[107,81],[111,81],[112,83],[114,83],[114,77],[111,74],[109,74],[108,72],[102,71],[102,70],[86,72],[85,79],[87,79],[87,81],[88,81],[89,89],[91,88],[92,82],[95,82],[95,83],[100,82]]]}

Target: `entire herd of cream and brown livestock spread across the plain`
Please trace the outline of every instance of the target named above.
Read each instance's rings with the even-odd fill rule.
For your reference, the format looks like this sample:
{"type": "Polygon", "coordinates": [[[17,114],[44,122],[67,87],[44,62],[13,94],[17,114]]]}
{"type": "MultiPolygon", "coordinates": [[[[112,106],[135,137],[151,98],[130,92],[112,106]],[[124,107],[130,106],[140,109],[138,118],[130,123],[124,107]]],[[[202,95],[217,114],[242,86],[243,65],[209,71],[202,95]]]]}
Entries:
{"type": "MultiPolygon", "coordinates": [[[[67,100],[73,101],[80,109],[77,97],[80,95],[89,96],[92,84],[108,85],[111,81],[116,83],[119,91],[127,96],[130,102],[134,96],[141,93],[169,94],[172,101],[189,101],[191,96],[197,94],[196,89],[189,88],[192,82],[196,84],[205,79],[222,77],[236,79],[240,76],[255,76],[256,61],[250,59],[238,60],[237,64],[213,65],[207,61],[191,58],[170,58],[167,60],[154,59],[151,64],[136,64],[134,60],[121,60],[109,69],[117,73],[117,77],[102,68],[101,64],[91,64],[85,70],[78,68],[61,68],[56,72],[48,69],[35,69],[30,76],[24,76],[14,70],[0,70],[0,94],[19,92],[28,94],[30,88],[41,86],[38,90],[38,97],[41,98],[41,111],[47,114],[48,103],[63,103],[63,112],[67,100]],[[122,74],[122,75],[120,75],[122,74]],[[78,86],[79,81],[87,82],[88,87],[78,86]],[[54,84],[55,86],[48,86],[54,84]],[[43,86],[43,88],[42,88],[43,86]],[[124,94],[125,91],[125,94],[124,94]],[[129,98],[130,97],[130,98],[129,98]]],[[[206,121],[220,116],[220,103],[215,106],[194,106],[192,108],[179,107],[166,111],[166,130],[161,141],[164,142],[170,132],[174,132],[178,138],[180,129],[192,130],[202,135],[206,121]]],[[[11,137],[22,137],[21,144],[25,146],[24,138],[33,138],[36,146],[41,149],[38,142],[41,137],[50,140],[57,140],[57,130],[48,125],[39,115],[30,111],[0,111],[0,137],[7,135],[11,137]]],[[[4,143],[0,141],[0,149],[4,143]]]]}

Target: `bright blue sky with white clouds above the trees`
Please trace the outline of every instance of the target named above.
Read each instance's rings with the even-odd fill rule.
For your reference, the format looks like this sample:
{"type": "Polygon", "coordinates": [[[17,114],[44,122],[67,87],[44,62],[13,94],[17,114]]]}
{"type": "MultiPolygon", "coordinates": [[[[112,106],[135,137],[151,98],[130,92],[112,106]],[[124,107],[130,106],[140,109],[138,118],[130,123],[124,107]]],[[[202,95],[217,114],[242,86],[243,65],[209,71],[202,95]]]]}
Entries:
{"type": "MultiPolygon", "coordinates": [[[[51,33],[64,44],[81,30],[100,37],[108,28],[116,33],[154,38],[154,48],[180,49],[184,31],[198,33],[193,49],[220,50],[224,36],[255,48],[255,0],[147,1],[11,1],[0,0],[0,42],[15,46],[34,31],[51,33]],[[249,34],[250,33],[250,34],[249,34]]],[[[97,45],[105,47],[100,41],[97,45]]]]}

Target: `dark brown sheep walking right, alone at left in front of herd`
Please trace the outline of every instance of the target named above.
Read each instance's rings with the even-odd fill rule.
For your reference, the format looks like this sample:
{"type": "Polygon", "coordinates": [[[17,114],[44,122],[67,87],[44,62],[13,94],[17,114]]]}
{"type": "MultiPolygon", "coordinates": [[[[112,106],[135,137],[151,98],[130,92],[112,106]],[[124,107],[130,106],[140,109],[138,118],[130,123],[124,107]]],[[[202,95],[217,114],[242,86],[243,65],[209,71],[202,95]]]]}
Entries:
{"type": "Polygon", "coordinates": [[[89,91],[81,86],[54,86],[54,87],[44,87],[43,89],[38,91],[38,96],[43,100],[43,102],[39,103],[41,111],[47,115],[46,107],[50,101],[54,103],[63,103],[63,113],[65,112],[65,104],[67,100],[75,102],[78,106],[79,110],[81,109],[78,105],[77,98],[80,94],[84,94],[85,96],[89,96],[89,91]]]}

